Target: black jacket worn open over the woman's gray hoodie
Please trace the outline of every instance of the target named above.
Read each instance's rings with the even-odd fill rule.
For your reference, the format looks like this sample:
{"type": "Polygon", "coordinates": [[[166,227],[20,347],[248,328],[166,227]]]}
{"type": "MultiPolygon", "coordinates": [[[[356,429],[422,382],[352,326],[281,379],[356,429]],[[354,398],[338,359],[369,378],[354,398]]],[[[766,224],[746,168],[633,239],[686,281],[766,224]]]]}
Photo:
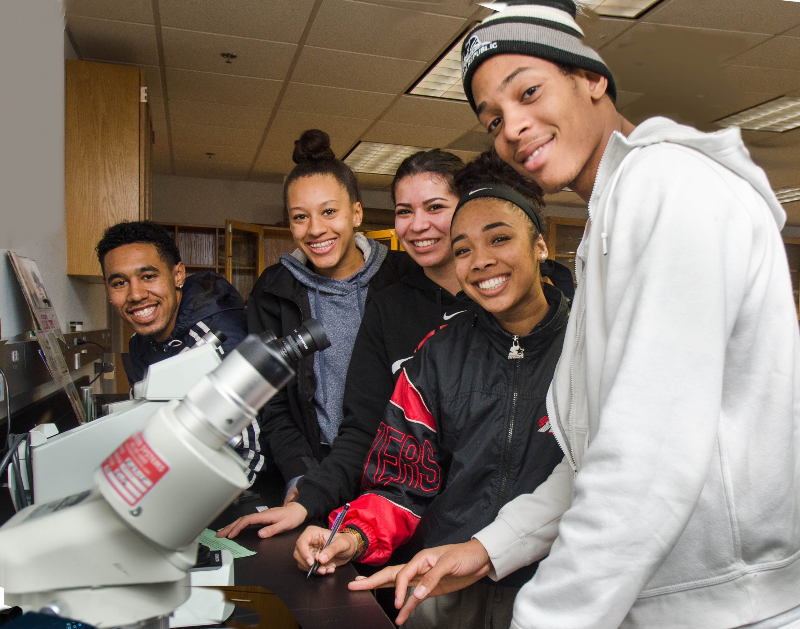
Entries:
{"type": "MultiPolygon", "coordinates": [[[[416,265],[408,254],[389,251],[370,280],[367,299],[378,290],[397,282],[416,265]]],[[[311,319],[308,289],[280,262],[270,266],[255,282],[247,305],[250,334],[265,330],[278,336],[288,334],[311,319]]],[[[274,395],[262,411],[262,435],[272,458],[288,482],[317,466],[328,448],[320,443],[319,424],[314,411],[314,356],[295,366],[297,376],[274,395]]]]}

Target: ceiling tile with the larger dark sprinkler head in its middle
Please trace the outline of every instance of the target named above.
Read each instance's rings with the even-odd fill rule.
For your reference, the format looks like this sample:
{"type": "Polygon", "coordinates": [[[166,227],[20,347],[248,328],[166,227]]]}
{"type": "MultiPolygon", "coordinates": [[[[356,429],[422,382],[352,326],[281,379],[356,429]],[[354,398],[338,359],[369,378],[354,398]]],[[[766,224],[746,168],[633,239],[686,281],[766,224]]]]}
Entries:
{"type": "Polygon", "coordinates": [[[278,80],[286,77],[297,48],[294,44],[282,42],[174,28],[162,29],[162,40],[164,62],[168,68],[278,80]],[[228,63],[221,56],[226,52],[238,57],[228,63]]]}

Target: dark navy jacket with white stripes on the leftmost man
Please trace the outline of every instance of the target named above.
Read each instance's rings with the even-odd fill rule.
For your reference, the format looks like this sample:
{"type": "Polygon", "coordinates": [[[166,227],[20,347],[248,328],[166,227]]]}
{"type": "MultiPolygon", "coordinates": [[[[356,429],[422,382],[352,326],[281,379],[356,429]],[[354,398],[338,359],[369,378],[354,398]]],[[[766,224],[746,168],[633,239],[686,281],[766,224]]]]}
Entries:
{"type": "MultiPolygon", "coordinates": [[[[170,338],[160,343],[150,337],[134,334],[128,343],[130,366],[125,371],[131,383],[145,377],[147,367],[168,359],[190,347],[211,327],[218,328],[227,339],[222,343],[220,354],[226,355],[247,335],[245,302],[238,290],[214,271],[191,274],[183,282],[178,317],[170,338]]],[[[264,457],[259,446],[259,427],[253,422],[242,432],[242,443],[235,450],[245,459],[250,483],[264,466],[264,457]]]]}

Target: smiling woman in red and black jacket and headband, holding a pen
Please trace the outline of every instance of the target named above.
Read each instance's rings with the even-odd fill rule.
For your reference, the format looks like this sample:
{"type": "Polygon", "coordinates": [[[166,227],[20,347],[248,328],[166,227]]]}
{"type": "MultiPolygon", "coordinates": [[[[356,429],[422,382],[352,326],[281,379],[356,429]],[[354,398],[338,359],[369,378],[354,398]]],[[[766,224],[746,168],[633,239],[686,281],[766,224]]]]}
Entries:
{"type": "MultiPolygon", "coordinates": [[[[542,282],[547,250],[534,208],[541,196],[514,175],[493,155],[459,175],[470,192],[459,202],[450,233],[458,281],[476,306],[431,333],[402,366],[344,535],[321,552],[330,531],[309,527],[298,539],[295,557],[306,570],[317,554],[325,574],[350,559],[386,563],[399,547],[395,559],[402,560],[422,547],[466,542],[562,460],[545,399],[569,300],[542,282]]],[[[562,277],[570,292],[571,274],[562,277]]],[[[330,514],[331,523],[336,515],[330,514]]],[[[486,613],[510,623],[516,590],[535,569],[429,599],[414,611],[412,624],[453,626],[448,597],[458,599],[458,627],[483,627],[486,613]],[[467,622],[466,608],[476,602],[484,604],[470,612],[475,622],[467,622]]]]}

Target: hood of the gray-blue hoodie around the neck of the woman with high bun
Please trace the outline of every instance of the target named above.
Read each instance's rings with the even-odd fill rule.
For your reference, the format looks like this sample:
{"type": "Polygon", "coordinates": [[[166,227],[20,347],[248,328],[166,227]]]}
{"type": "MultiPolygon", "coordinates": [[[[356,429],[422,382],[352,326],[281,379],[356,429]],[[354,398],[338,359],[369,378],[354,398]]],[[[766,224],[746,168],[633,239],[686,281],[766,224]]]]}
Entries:
{"type": "Polygon", "coordinates": [[[355,234],[355,246],[364,256],[364,266],[345,279],[328,278],[314,272],[306,254],[299,248],[292,254],[283,254],[281,264],[286,266],[294,278],[306,288],[318,290],[320,294],[346,295],[354,290],[366,288],[386,258],[386,246],[372,238],[366,238],[364,234],[355,234]]]}

